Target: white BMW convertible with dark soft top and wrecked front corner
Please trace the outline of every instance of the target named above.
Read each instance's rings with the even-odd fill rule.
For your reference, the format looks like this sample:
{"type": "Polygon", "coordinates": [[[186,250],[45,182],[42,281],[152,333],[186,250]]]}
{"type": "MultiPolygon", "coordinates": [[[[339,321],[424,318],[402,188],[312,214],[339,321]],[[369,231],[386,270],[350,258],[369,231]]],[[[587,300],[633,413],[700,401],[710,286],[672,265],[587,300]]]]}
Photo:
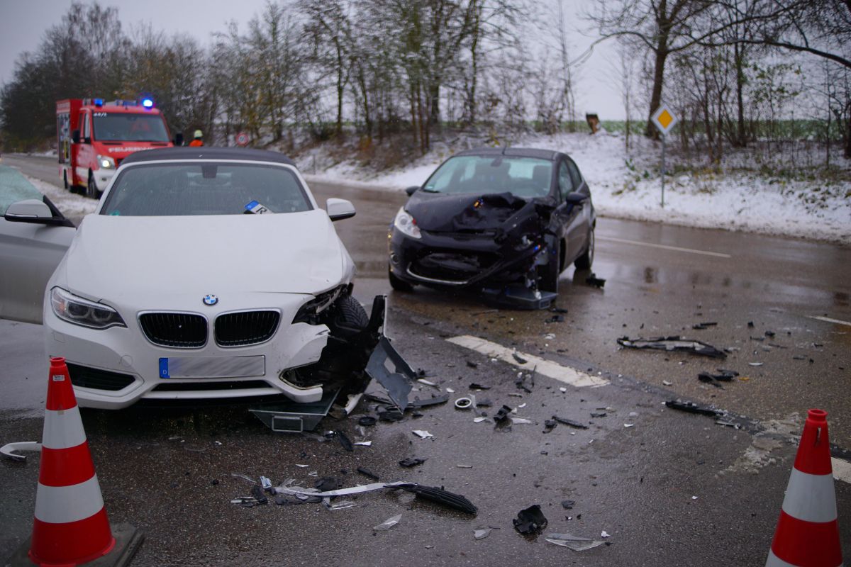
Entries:
{"type": "Polygon", "coordinates": [[[126,158],[44,296],[46,351],[66,358],[80,405],[320,400],[334,360],[365,362],[355,339],[370,324],[332,225],[354,207],[328,199],[326,208],[278,153],[126,158]]]}

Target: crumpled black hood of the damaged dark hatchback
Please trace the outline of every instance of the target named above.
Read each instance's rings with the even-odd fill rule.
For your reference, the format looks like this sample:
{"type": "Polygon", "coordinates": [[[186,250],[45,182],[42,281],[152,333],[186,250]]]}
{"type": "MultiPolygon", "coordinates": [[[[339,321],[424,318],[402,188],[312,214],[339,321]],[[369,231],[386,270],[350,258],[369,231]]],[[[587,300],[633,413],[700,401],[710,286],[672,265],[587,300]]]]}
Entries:
{"type": "Polygon", "coordinates": [[[549,199],[528,201],[511,193],[414,195],[419,198],[408,201],[405,208],[420,230],[429,232],[511,231],[543,213],[542,209],[552,209],[549,199]]]}

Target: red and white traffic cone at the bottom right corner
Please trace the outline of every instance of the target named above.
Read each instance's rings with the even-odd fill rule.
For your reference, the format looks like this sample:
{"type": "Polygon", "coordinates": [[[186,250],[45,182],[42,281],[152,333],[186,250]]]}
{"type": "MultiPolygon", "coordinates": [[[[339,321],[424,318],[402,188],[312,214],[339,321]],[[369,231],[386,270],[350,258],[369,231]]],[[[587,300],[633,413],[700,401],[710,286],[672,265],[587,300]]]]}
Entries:
{"type": "Polygon", "coordinates": [[[766,567],[842,565],[826,417],[808,411],[766,567]]]}

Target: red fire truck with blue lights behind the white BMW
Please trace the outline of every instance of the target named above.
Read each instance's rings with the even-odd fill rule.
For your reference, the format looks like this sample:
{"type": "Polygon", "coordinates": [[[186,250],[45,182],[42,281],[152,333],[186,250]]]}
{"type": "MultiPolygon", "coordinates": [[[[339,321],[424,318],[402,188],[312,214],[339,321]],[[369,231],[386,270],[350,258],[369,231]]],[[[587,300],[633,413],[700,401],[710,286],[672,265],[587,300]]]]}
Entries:
{"type": "Polygon", "coordinates": [[[82,187],[94,199],[125,157],[172,146],[165,119],[150,97],[58,100],[56,135],[59,174],[66,189],[82,187]]]}

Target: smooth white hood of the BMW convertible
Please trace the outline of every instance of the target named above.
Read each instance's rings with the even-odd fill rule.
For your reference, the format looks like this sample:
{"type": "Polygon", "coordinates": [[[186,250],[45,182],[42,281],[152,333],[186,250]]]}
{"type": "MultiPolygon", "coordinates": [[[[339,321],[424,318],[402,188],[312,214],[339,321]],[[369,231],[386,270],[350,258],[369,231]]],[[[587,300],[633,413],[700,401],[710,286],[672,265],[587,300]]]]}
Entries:
{"type": "Polygon", "coordinates": [[[90,214],[55,283],[95,300],[186,292],[200,298],[222,292],[317,293],[351,271],[351,258],[320,209],[192,217],[90,214]]]}

